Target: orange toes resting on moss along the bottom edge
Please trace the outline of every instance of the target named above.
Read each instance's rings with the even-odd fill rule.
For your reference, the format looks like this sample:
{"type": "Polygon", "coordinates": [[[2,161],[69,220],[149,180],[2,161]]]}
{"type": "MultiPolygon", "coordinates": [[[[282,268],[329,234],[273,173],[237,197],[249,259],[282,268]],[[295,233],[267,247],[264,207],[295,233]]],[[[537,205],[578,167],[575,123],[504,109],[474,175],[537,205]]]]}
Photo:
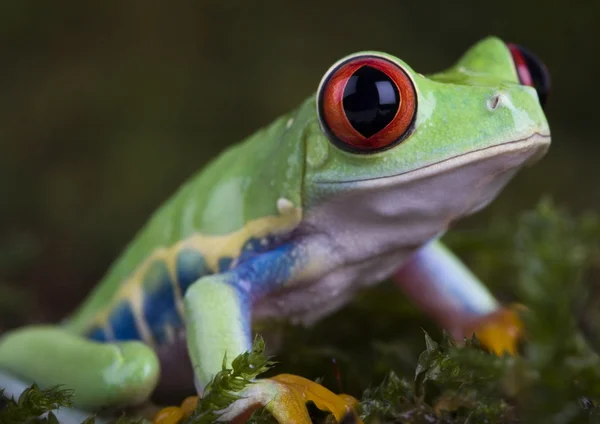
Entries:
{"type": "MultiPolygon", "coordinates": [[[[351,422],[362,424],[354,407],[358,401],[350,395],[329,391],[320,384],[291,374],[279,374],[272,378],[252,383],[239,394],[227,409],[220,411],[219,421],[242,424],[261,406],[264,406],[281,424],[311,424],[306,409],[307,402],[313,402],[322,411],[333,414],[341,423],[347,416],[351,422]]],[[[197,398],[188,398],[181,407],[165,408],[158,413],[154,424],[177,424],[189,416],[197,398]]]]}

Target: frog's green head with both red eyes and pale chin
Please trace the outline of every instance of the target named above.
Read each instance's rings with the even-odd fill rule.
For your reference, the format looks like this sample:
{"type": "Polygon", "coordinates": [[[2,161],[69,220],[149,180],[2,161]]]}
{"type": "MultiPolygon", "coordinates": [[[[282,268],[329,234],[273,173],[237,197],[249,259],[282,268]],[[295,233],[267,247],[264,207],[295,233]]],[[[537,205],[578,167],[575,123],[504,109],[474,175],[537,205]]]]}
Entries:
{"type": "Polygon", "coordinates": [[[497,38],[428,76],[389,54],[348,56],[313,99],[305,207],[320,220],[400,218],[439,234],[547,151],[548,86],[535,56],[497,38]]]}

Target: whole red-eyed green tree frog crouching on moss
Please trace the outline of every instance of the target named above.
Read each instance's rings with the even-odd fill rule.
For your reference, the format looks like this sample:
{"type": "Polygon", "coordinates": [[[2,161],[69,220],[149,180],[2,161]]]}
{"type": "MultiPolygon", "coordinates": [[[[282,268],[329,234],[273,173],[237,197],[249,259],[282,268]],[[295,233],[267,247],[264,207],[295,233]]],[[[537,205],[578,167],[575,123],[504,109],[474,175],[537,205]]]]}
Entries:
{"type": "MultiPolygon", "coordinates": [[[[548,91],[542,62],[494,37],[432,75],[387,53],[344,57],[297,109],[189,179],[68,319],[3,335],[0,387],[63,384],[83,411],[156,390],[201,396],[250,349],[253,321],[315,325],[390,278],[455,337],[513,353],[516,313],[439,238],[546,153],[548,91]]],[[[220,419],[265,405],[310,423],[315,390],[338,419],[351,407],[283,375],[257,379],[220,419]]]]}

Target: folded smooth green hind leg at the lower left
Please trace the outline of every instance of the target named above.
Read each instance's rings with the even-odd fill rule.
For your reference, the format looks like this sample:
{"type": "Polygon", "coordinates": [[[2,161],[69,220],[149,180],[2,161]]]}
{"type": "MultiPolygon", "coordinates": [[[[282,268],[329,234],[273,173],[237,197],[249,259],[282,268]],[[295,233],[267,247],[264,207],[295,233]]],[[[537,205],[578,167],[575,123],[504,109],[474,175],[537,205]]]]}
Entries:
{"type": "Polygon", "coordinates": [[[98,343],[52,326],[7,333],[0,369],[41,387],[71,388],[74,406],[90,411],[141,403],[159,377],[156,355],[141,342],[98,343]]]}

